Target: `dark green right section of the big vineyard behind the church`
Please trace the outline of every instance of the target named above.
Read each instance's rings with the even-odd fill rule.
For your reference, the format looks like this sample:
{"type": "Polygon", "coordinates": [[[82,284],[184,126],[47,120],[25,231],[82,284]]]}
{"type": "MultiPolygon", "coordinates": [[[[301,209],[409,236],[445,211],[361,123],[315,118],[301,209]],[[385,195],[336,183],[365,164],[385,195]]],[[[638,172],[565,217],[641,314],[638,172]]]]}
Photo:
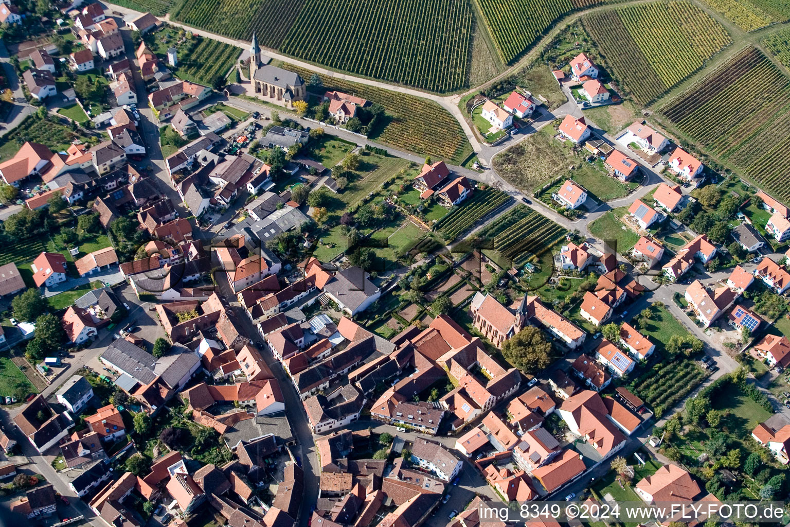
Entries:
{"type": "Polygon", "coordinates": [[[305,0],[280,51],[330,68],[446,92],[465,85],[468,0],[305,0]]]}

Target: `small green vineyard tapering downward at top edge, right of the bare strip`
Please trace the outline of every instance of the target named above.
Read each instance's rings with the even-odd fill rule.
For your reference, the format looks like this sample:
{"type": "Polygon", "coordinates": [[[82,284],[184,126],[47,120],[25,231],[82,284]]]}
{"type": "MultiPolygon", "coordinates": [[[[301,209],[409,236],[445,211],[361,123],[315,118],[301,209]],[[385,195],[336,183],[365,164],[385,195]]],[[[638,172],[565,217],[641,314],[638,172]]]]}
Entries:
{"type": "Polygon", "coordinates": [[[502,62],[513,62],[555,21],[599,0],[480,0],[483,20],[502,62]]]}

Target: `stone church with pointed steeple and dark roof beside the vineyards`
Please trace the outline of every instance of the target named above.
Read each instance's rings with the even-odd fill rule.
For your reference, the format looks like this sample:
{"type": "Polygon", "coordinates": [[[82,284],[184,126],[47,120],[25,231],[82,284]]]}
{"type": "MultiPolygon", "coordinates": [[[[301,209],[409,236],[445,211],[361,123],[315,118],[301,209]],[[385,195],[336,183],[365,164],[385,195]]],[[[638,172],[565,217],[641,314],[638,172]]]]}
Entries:
{"type": "Polygon", "coordinates": [[[307,87],[299,73],[262,63],[255,33],[250,43],[250,82],[255,96],[269,103],[291,108],[294,101],[307,100],[307,87]]]}

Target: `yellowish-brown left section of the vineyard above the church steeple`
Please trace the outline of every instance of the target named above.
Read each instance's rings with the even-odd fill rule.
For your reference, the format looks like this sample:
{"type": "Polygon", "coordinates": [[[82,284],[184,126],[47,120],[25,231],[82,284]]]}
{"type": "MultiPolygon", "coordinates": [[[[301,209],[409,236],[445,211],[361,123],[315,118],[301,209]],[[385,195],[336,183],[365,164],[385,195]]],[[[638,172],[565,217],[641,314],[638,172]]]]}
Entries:
{"type": "Polygon", "coordinates": [[[179,2],[170,13],[174,21],[231,39],[252,40],[277,49],[288,35],[304,0],[194,0],[179,2]]]}

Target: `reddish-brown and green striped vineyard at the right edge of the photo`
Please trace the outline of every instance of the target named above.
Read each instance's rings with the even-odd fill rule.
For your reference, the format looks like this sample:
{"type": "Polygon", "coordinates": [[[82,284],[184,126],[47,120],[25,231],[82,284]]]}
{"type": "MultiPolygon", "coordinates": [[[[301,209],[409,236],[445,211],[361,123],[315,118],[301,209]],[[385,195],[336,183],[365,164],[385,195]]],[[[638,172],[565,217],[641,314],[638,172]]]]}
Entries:
{"type": "Polygon", "coordinates": [[[661,111],[690,141],[787,200],[788,96],[790,79],[760,51],[746,47],[661,111]]]}

